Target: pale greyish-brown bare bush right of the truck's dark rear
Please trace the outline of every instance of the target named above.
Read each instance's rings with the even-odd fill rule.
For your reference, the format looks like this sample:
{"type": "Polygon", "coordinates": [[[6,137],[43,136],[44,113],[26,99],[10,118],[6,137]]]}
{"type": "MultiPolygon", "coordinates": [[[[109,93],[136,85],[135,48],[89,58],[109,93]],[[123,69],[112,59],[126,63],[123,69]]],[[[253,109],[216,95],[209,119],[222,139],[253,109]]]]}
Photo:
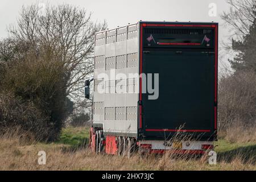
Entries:
{"type": "Polygon", "coordinates": [[[255,126],[256,73],[236,72],[223,77],[218,90],[219,129],[226,131],[234,125],[255,126]]]}

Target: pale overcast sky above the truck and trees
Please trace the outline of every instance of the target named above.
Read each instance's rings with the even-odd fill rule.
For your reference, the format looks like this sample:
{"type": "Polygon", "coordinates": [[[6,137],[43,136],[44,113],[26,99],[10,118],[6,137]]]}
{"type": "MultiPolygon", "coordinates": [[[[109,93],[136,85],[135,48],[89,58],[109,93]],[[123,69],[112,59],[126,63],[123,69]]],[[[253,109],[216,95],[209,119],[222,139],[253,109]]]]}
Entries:
{"type": "Polygon", "coordinates": [[[138,20],[195,21],[220,23],[220,40],[228,39],[229,32],[222,25],[220,15],[229,9],[225,0],[0,0],[0,38],[7,36],[6,27],[16,22],[22,5],[69,3],[93,13],[93,20],[108,23],[108,28],[125,26],[138,20]],[[209,16],[210,3],[217,7],[216,16],[209,16]]]}

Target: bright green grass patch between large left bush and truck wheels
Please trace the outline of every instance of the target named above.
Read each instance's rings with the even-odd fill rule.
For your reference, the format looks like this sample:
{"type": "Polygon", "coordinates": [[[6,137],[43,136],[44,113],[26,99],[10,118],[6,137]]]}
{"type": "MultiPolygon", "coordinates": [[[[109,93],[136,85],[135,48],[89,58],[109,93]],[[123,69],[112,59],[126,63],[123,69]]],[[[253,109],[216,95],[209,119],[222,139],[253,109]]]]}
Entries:
{"type": "Polygon", "coordinates": [[[89,141],[89,127],[66,127],[57,143],[68,144],[71,147],[85,146],[89,141]]]}

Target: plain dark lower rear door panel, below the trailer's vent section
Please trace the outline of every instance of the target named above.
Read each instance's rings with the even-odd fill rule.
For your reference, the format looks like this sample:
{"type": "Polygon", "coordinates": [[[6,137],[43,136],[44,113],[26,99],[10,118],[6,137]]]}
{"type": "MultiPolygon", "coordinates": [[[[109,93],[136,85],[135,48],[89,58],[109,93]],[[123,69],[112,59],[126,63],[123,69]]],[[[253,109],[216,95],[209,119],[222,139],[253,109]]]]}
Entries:
{"type": "Polygon", "coordinates": [[[178,129],[213,136],[213,53],[150,51],[143,53],[143,73],[159,73],[158,99],[142,94],[144,137],[172,136],[178,129]]]}

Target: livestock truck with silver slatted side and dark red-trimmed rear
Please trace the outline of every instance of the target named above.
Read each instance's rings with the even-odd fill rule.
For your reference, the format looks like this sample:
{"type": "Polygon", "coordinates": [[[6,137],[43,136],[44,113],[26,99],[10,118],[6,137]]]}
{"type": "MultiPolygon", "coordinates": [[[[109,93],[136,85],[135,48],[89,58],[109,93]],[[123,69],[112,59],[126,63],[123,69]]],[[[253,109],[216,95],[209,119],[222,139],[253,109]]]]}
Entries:
{"type": "Polygon", "coordinates": [[[205,154],[217,140],[218,23],[148,22],[97,32],[90,148],[205,154]]]}

